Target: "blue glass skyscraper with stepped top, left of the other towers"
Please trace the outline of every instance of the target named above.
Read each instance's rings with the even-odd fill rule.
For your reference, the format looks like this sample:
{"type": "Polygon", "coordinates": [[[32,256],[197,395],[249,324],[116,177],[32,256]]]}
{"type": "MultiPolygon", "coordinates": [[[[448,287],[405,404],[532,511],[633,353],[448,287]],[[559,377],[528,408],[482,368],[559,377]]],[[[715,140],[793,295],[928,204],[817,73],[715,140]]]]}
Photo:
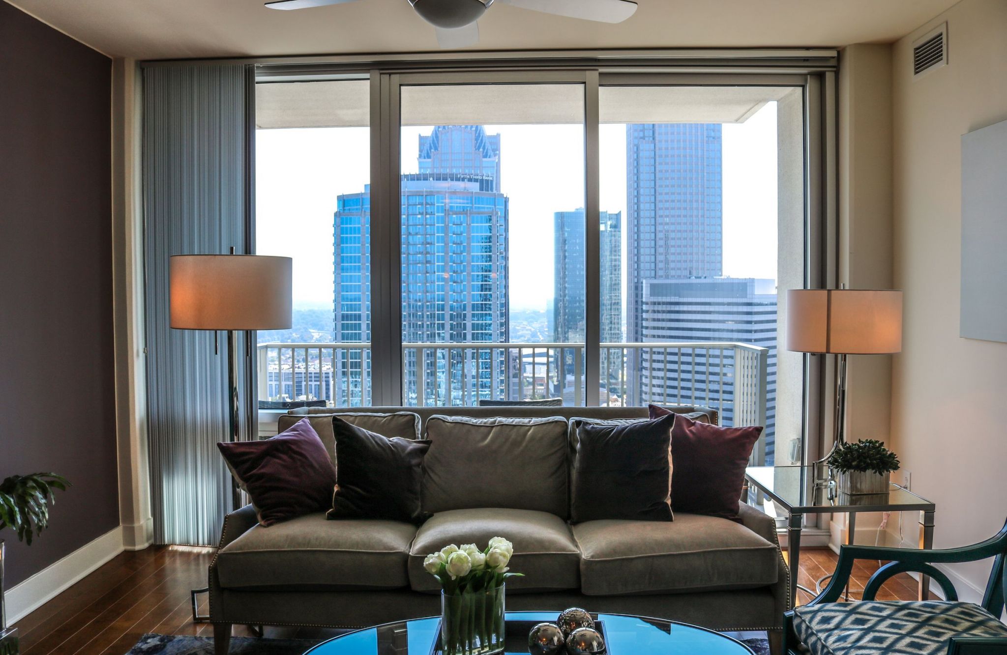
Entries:
{"type": "MultiPolygon", "coordinates": [[[[437,126],[419,145],[420,172],[401,181],[402,340],[503,342],[510,325],[508,198],[499,192],[499,136],[480,126],[437,126]]],[[[370,196],[340,195],[337,207],[335,334],[368,341],[370,196]]],[[[428,402],[474,404],[494,388],[505,394],[502,354],[407,349],[403,367],[407,403],[421,403],[422,395],[428,402]]]]}

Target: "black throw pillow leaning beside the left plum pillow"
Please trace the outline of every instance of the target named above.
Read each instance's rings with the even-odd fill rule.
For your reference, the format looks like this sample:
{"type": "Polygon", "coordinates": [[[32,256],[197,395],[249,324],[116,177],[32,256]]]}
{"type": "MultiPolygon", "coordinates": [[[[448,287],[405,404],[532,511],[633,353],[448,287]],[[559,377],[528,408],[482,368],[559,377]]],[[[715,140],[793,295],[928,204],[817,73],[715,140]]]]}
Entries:
{"type": "Polygon", "coordinates": [[[429,442],[389,439],[332,417],[339,480],[328,518],[387,518],[422,523],[423,457],[429,442]]]}

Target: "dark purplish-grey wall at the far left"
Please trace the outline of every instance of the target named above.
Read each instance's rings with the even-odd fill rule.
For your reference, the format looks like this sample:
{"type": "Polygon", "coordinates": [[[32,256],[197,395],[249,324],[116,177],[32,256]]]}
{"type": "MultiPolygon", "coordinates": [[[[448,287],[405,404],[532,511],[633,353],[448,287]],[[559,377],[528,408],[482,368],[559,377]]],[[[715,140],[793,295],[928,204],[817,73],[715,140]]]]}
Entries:
{"type": "Polygon", "coordinates": [[[74,483],[6,585],[119,526],[112,60],[0,2],[0,478],[74,483]]]}

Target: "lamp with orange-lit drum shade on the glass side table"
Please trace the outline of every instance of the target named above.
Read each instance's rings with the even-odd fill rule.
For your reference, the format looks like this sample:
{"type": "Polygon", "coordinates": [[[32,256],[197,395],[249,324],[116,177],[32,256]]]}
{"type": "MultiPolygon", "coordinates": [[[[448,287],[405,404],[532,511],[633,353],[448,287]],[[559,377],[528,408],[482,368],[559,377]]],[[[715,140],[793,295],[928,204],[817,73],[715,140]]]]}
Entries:
{"type": "MultiPolygon", "coordinates": [[[[839,355],[832,446],[835,451],[840,444],[846,443],[846,356],[891,354],[902,350],[902,292],[787,291],[786,349],[839,355]]],[[[829,480],[826,465],[829,455],[812,463],[816,484],[829,480]]]]}

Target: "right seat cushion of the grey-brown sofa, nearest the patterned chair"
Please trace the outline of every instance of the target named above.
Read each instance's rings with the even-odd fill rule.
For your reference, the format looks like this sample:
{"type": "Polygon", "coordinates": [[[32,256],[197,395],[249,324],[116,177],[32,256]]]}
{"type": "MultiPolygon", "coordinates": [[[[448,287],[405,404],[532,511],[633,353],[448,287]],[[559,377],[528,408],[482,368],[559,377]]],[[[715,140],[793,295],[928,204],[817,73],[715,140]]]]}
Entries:
{"type": "Polygon", "coordinates": [[[588,596],[752,589],[778,578],[776,545],[726,518],[587,521],[573,534],[588,596]]]}

